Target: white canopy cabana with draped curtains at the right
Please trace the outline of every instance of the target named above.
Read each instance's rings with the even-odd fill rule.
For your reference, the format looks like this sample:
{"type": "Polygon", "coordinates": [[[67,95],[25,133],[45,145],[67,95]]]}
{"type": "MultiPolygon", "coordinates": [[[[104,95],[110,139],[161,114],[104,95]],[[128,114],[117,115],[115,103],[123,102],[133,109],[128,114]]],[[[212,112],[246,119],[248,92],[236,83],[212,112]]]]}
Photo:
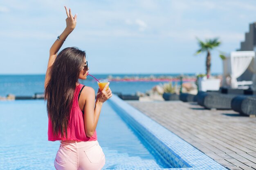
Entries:
{"type": "Polygon", "coordinates": [[[245,85],[256,88],[255,51],[233,51],[223,60],[222,86],[239,88],[245,85]]]}

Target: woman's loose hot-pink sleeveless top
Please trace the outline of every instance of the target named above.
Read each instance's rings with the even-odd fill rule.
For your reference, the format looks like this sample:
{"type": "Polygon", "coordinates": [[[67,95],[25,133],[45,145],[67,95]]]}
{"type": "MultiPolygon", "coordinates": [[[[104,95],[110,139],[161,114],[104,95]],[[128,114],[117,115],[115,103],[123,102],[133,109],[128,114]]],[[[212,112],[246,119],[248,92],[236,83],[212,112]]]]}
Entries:
{"type": "Polygon", "coordinates": [[[74,92],[74,100],[73,106],[70,113],[69,125],[67,126],[67,138],[64,134],[64,137],[61,138],[61,132],[58,132],[58,135],[53,134],[52,130],[52,121],[48,117],[48,141],[57,141],[57,140],[72,140],[72,141],[96,141],[97,133],[96,130],[91,137],[87,137],[85,135],[85,127],[84,127],[84,115],[79,108],[78,104],[78,95],[79,91],[83,87],[83,84],[79,84],[76,86],[76,90],[74,92]]]}

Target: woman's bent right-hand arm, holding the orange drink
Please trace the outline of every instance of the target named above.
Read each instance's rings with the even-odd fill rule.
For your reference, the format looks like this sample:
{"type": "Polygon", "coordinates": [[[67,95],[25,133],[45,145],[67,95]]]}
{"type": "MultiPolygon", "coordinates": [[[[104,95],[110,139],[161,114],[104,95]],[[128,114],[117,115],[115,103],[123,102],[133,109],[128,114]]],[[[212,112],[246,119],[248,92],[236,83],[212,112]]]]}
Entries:
{"type": "Polygon", "coordinates": [[[109,99],[112,96],[110,88],[106,91],[108,84],[103,88],[102,91],[98,90],[97,99],[95,102],[95,92],[93,88],[88,88],[85,97],[85,108],[84,108],[84,117],[85,117],[85,134],[88,137],[91,137],[94,134],[94,131],[97,127],[99,115],[101,113],[101,107],[103,102],[109,99]],[[95,107],[94,107],[95,104],[95,107]]]}

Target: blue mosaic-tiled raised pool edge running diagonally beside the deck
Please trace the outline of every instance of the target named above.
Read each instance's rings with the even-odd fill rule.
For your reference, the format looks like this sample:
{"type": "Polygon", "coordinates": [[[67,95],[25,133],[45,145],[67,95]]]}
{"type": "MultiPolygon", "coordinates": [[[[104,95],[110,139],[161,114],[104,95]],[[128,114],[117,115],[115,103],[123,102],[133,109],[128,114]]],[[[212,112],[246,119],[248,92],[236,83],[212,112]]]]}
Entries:
{"type": "MultiPolygon", "coordinates": [[[[146,168],[132,170],[227,170],[203,152],[193,147],[127,102],[113,95],[108,102],[118,115],[135,128],[150,145],[161,153],[170,166],[177,168],[146,168]],[[172,163],[173,162],[173,163],[172,163]]],[[[109,170],[109,169],[108,169],[109,170]]],[[[120,169],[127,170],[127,169],[120,169]]]]}

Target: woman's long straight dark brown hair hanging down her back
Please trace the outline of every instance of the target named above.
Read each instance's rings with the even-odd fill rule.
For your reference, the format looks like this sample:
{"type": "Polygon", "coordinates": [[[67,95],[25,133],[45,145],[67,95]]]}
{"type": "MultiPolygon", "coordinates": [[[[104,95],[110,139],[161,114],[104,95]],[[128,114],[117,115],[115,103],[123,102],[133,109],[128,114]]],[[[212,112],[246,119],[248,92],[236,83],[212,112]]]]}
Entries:
{"type": "Polygon", "coordinates": [[[67,138],[67,126],[74,99],[76,83],[84,64],[85,51],[68,47],[58,53],[50,68],[50,80],[45,88],[47,114],[52,121],[55,135],[67,138]]]}

